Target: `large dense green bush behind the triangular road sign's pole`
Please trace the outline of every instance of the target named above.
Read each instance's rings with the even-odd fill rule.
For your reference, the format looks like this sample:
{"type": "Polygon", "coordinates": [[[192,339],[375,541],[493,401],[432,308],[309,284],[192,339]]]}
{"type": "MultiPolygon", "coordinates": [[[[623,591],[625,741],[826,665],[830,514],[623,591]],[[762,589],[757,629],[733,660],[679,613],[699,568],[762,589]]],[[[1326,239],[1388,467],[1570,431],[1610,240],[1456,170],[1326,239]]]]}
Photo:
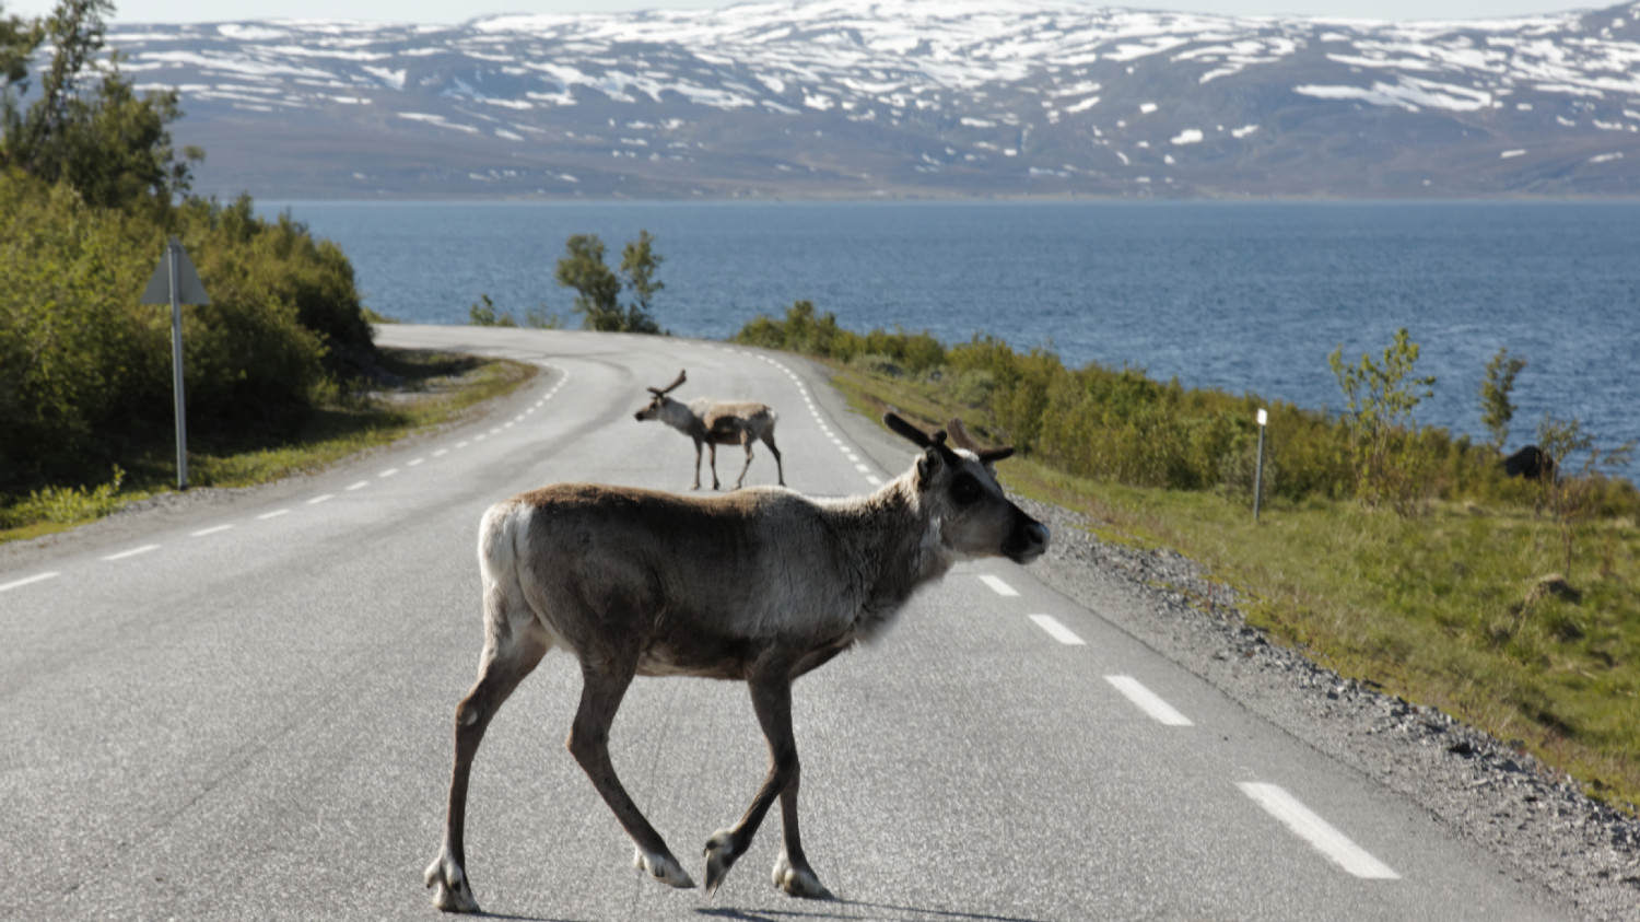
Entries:
{"type": "Polygon", "coordinates": [[[190,440],[276,438],[374,361],[346,258],[248,199],[100,208],[11,171],[0,226],[0,497],[171,440],[171,312],[138,304],[169,235],[212,299],[182,318],[190,440]]]}

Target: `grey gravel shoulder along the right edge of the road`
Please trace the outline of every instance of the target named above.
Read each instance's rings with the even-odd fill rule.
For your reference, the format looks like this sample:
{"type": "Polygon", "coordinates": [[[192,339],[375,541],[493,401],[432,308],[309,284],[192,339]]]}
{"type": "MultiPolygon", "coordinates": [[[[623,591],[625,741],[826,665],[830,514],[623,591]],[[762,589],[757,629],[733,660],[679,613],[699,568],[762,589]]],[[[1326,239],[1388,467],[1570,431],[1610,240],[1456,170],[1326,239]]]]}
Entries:
{"type": "Polygon", "coordinates": [[[1402,794],[1491,850],[1579,919],[1640,919],[1640,820],[1432,707],[1343,679],[1248,627],[1240,599],[1178,553],[1100,541],[1064,509],[1032,571],[1255,714],[1402,794]]]}

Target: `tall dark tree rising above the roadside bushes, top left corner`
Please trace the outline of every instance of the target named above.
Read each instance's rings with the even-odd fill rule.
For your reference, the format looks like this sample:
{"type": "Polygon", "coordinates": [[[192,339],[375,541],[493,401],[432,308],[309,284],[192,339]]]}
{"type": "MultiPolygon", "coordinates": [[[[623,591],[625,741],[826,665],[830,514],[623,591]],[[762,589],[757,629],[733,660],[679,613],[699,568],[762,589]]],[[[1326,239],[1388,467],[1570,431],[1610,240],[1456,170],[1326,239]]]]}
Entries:
{"type": "Polygon", "coordinates": [[[177,92],[136,89],[120,74],[118,52],[98,62],[110,0],[59,0],[49,16],[26,33],[16,20],[0,25],[0,167],[18,167],[46,182],[67,182],[89,203],[128,207],[146,202],[161,210],[190,185],[198,148],[172,148],[167,125],[182,112],[177,92]],[[33,43],[33,44],[31,44],[33,43]],[[28,89],[28,54],[51,46],[39,75],[39,97],[20,110],[11,85],[28,89]]]}

